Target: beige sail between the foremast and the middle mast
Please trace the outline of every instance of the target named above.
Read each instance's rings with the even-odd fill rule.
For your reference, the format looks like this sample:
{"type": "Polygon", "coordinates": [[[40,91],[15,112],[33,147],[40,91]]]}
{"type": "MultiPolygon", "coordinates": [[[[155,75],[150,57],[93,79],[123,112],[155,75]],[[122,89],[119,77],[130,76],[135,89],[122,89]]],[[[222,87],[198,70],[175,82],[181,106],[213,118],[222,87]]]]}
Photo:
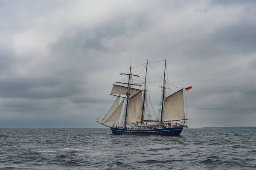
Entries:
{"type": "Polygon", "coordinates": [[[127,113],[127,124],[133,124],[137,121],[140,121],[141,114],[140,112],[140,106],[142,104],[142,91],[135,94],[129,99],[129,105],[128,105],[128,113],[127,113]]]}

